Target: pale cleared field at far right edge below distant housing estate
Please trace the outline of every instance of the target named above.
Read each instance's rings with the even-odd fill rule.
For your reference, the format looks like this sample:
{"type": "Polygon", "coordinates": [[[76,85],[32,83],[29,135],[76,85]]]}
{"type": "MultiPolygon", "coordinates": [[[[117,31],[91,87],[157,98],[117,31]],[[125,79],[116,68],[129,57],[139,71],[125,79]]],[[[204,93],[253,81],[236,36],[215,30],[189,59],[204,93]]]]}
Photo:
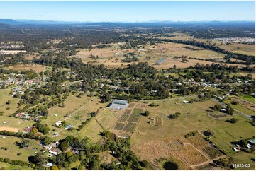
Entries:
{"type": "Polygon", "coordinates": [[[222,45],[221,48],[238,54],[247,54],[255,56],[255,45],[233,44],[222,45]]]}

